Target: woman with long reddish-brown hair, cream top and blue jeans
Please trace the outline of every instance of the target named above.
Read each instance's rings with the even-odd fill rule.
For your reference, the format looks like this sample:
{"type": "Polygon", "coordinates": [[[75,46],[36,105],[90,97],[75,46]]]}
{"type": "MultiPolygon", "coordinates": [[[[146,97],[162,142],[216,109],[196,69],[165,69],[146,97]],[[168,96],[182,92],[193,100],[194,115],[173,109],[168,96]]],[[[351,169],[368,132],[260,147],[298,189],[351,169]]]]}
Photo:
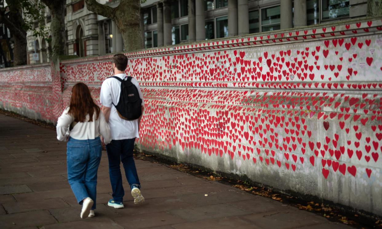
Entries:
{"type": "Polygon", "coordinates": [[[74,85],[68,106],[57,121],[57,139],[65,141],[67,132],[68,182],[82,206],[81,218],[94,217],[97,171],[101,160],[100,135],[111,142],[110,127],[84,83],[74,85]]]}

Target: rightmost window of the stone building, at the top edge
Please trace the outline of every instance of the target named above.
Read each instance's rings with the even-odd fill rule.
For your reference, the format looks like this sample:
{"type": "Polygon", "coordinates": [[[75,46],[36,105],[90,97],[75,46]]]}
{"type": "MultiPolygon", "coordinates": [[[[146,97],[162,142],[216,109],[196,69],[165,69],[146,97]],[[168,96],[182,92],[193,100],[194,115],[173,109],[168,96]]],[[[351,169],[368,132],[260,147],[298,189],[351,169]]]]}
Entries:
{"type": "Polygon", "coordinates": [[[349,0],[322,0],[322,20],[348,17],[349,0]]]}

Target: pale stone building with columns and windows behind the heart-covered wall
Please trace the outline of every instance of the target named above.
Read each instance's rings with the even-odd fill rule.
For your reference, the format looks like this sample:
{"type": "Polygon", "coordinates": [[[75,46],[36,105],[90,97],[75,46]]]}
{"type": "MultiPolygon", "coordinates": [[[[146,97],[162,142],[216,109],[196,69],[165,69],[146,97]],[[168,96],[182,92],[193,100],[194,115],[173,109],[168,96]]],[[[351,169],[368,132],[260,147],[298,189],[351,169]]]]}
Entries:
{"type": "MultiPolygon", "coordinates": [[[[66,5],[67,55],[124,51],[112,20],[87,10],[84,0],[66,0],[66,5]]],[[[367,0],[147,0],[141,5],[142,39],[145,48],[161,47],[358,18],[366,16],[366,10],[367,0]]],[[[45,14],[49,27],[48,8],[45,14]]],[[[48,43],[29,32],[28,63],[49,61],[48,43]],[[39,58],[34,60],[36,53],[39,58]]]]}

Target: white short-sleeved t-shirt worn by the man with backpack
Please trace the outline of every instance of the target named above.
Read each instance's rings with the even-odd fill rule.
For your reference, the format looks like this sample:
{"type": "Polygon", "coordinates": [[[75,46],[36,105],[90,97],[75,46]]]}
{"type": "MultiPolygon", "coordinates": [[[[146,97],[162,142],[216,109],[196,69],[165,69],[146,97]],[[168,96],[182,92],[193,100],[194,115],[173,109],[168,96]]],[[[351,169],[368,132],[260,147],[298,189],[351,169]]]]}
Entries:
{"type": "MultiPolygon", "coordinates": [[[[115,75],[121,79],[125,79],[126,74],[117,74],[115,75]]],[[[137,87],[139,92],[139,97],[142,99],[142,106],[144,105],[144,100],[139,87],[138,81],[132,78],[131,82],[137,87]]],[[[121,94],[121,82],[118,79],[108,78],[102,83],[101,86],[101,95],[100,102],[102,106],[110,107],[110,116],[109,116],[109,126],[112,133],[112,140],[123,140],[123,139],[132,139],[134,137],[139,138],[138,133],[138,119],[133,121],[128,121],[121,119],[117,113],[117,109],[113,105],[117,105],[121,94]]]]}

